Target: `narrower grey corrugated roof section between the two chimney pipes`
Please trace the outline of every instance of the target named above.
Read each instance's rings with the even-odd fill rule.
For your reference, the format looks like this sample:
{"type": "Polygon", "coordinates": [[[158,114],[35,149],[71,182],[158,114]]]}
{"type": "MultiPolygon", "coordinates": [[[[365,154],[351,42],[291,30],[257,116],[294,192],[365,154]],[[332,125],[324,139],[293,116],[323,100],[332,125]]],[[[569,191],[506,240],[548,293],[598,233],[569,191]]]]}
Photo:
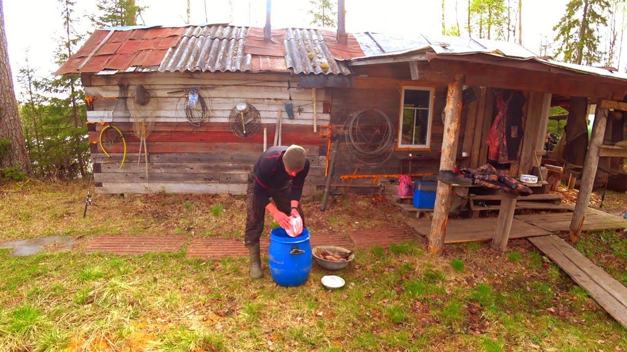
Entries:
{"type": "Polygon", "coordinates": [[[294,73],[350,75],[348,66],[335,60],[319,29],[285,29],[285,61],[294,73]]]}

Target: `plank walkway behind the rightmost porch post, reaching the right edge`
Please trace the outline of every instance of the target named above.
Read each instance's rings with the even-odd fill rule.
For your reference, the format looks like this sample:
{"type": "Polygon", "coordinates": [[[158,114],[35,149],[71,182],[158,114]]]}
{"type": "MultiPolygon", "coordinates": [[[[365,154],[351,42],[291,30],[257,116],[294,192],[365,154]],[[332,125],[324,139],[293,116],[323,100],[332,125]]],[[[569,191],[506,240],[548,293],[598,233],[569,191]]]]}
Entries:
{"type": "MultiPolygon", "coordinates": [[[[565,206],[572,209],[572,205],[565,206]]],[[[571,226],[572,212],[515,215],[514,219],[522,220],[551,232],[568,231],[571,226]]],[[[584,220],[583,227],[584,231],[625,228],[627,228],[627,220],[625,219],[592,208],[588,208],[586,211],[586,219],[584,220]]]]}

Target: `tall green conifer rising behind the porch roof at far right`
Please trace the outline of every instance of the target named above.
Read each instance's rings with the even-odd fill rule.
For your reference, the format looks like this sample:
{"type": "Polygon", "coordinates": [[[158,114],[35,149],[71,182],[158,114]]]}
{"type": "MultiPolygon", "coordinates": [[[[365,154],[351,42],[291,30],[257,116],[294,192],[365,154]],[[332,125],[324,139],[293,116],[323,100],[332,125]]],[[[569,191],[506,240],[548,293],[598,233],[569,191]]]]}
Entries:
{"type": "Polygon", "coordinates": [[[557,55],[579,65],[593,65],[603,58],[599,32],[608,25],[604,11],[608,0],[571,0],[566,13],[553,30],[557,31],[557,55]]]}

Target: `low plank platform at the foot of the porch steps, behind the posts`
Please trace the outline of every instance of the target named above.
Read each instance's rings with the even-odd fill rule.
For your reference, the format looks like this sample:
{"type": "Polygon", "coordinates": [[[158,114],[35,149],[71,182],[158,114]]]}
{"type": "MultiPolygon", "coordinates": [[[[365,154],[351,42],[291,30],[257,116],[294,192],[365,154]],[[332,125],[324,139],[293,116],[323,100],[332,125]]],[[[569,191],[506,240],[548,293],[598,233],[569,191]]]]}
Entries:
{"type": "MultiPolygon", "coordinates": [[[[496,217],[482,219],[450,219],[446,222],[445,243],[459,243],[470,241],[492,241],[497,227],[496,217]]],[[[420,236],[429,236],[430,221],[408,220],[407,224],[420,236]]],[[[510,239],[519,239],[532,236],[546,236],[551,232],[540,229],[524,221],[514,219],[510,230],[510,239]]]]}

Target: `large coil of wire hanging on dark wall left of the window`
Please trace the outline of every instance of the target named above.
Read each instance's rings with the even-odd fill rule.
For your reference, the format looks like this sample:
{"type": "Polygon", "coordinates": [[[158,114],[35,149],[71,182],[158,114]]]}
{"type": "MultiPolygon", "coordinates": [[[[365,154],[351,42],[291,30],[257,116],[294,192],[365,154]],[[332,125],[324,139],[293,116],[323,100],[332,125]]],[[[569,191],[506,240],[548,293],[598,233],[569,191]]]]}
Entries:
{"type": "Polygon", "coordinates": [[[394,125],[381,110],[364,109],[352,113],[344,122],[342,137],[347,149],[344,156],[353,165],[377,167],[387,162],[394,152],[394,125]],[[366,111],[374,111],[379,117],[363,122],[366,111]]]}

